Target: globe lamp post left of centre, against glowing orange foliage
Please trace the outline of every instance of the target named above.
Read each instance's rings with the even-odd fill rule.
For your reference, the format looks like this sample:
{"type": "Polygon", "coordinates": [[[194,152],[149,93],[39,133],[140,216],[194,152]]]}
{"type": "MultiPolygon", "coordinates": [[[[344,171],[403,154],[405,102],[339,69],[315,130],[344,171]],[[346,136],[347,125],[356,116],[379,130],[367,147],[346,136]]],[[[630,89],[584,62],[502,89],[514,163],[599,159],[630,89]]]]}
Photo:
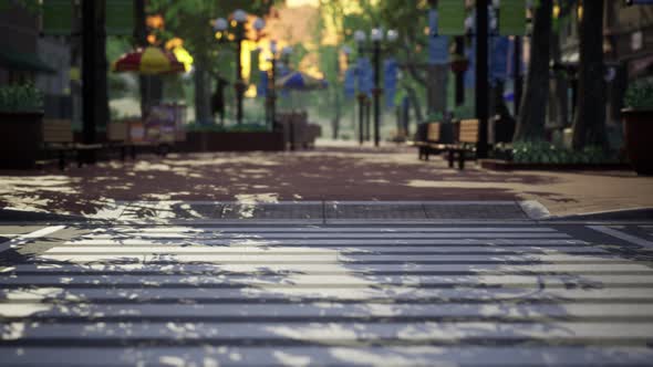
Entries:
{"type": "MultiPolygon", "coordinates": [[[[247,13],[243,10],[236,10],[231,14],[231,22],[228,22],[224,18],[218,18],[214,24],[214,29],[217,32],[216,38],[220,41],[228,42],[234,41],[236,42],[236,83],[234,83],[234,87],[236,90],[236,120],[240,125],[242,123],[242,96],[245,94],[245,82],[242,80],[242,63],[240,60],[240,54],[242,52],[242,41],[246,40],[246,29],[245,24],[247,23],[247,13]],[[227,40],[225,40],[224,34],[228,33],[229,27],[234,30],[228,34],[227,40]]],[[[260,32],[263,27],[266,27],[266,22],[257,18],[253,22],[253,28],[257,32],[260,32]]]]}

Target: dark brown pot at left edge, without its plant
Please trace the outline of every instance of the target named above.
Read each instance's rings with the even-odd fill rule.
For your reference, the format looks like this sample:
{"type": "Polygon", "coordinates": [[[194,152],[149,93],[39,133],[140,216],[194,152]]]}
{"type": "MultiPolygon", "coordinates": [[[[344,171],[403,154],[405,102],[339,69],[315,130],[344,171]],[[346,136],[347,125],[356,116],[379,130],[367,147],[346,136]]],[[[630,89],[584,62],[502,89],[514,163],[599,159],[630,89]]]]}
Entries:
{"type": "Polygon", "coordinates": [[[42,148],[42,113],[0,112],[0,168],[34,168],[42,148]]]}

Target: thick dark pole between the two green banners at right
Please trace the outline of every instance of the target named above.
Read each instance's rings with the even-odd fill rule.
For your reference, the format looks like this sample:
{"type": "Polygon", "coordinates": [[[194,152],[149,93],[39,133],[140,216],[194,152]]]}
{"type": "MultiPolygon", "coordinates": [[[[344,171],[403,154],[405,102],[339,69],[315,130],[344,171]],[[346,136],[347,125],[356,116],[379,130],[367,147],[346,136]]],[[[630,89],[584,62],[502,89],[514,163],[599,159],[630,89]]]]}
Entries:
{"type": "Polygon", "coordinates": [[[488,0],[476,0],[476,118],[479,122],[476,156],[487,158],[488,120],[488,0]]]}

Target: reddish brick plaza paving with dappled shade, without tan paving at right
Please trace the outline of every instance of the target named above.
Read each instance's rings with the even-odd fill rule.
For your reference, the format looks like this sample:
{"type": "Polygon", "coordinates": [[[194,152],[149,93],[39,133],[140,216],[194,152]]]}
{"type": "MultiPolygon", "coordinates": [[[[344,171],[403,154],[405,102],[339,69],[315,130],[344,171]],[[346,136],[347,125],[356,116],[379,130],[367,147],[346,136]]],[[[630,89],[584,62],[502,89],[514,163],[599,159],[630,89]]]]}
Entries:
{"type": "Polygon", "coordinates": [[[134,200],[512,200],[510,185],[541,186],[554,177],[458,171],[413,154],[355,149],[144,156],[96,166],[3,171],[0,206],[102,218],[104,208],[134,200]]]}

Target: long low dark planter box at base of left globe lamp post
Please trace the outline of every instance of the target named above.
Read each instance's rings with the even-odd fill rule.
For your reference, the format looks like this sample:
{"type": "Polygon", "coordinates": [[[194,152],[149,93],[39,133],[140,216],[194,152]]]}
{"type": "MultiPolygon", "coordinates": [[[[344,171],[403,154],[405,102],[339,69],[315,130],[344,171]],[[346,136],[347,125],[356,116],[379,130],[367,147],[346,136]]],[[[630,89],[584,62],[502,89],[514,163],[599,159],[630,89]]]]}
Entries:
{"type": "Polygon", "coordinates": [[[283,133],[188,132],[176,146],[182,151],[280,151],[283,133]]]}

